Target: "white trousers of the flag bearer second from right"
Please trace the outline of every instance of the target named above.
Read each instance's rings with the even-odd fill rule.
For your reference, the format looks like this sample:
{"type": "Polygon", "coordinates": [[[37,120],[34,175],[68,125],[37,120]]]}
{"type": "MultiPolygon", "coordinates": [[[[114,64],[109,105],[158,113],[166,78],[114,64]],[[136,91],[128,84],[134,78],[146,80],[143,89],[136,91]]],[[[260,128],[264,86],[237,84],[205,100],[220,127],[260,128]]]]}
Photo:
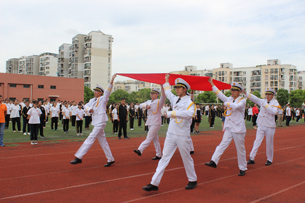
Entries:
{"type": "Polygon", "coordinates": [[[217,146],[211,160],[214,161],[217,165],[221,155],[225,152],[232,139],[234,139],[237,151],[238,167],[240,170],[247,170],[245,135],[246,133],[234,133],[226,130],[223,139],[219,146],[217,146]]]}

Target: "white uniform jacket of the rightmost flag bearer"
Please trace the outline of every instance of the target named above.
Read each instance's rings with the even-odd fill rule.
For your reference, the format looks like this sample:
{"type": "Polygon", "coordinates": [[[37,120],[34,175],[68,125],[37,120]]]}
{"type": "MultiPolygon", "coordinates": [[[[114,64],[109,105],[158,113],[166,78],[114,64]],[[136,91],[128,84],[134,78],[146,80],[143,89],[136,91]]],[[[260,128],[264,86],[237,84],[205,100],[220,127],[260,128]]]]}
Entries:
{"type": "Polygon", "coordinates": [[[258,113],[256,123],[261,126],[275,128],[275,115],[278,113],[278,108],[280,107],[278,100],[272,99],[268,104],[267,99],[259,99],[251,93],[247,93],[246,97],[250,101],[256,103],[257,105],[260,105],[261,107],[258,113]]]}

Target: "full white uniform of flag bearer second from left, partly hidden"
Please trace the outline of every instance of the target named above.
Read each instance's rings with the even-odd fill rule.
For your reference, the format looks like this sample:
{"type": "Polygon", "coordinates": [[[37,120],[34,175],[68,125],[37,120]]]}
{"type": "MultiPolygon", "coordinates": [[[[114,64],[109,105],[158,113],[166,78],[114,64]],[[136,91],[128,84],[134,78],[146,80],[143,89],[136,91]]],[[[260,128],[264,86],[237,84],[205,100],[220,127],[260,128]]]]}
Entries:
{"type": "Polygon", "coordinates": [[[147,121],[145,126],[148,126],[148,133],[146,139],[140,144],[138,150],[141,154],[149,146],[150,142],[153,140],[156,148],[156,156],[162,157],[162,151],[159,142],[158,131],[161,127],[161,110],[165,102],[165,95],[161,93],[160,99],[154,101],[148,100],[139,105],[143,110],[146,109],[146,105],[149,105],[151,108],[147,109],[147,121]]]}

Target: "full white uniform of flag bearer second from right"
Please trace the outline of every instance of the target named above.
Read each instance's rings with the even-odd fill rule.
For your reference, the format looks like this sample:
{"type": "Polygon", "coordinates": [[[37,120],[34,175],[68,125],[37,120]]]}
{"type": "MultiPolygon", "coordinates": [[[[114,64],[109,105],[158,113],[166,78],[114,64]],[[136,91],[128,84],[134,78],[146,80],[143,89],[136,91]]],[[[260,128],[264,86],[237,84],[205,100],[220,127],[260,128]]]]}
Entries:
{"type": "Polygon", "coordinates": [[[224,102],[224,106],[227,106],[228,110],[226,111],[227,117],[224,123],[225,132],[223,139],[219,146],[217,146],[211,160],[217,165],[221,155],[225,152],[232,139],[234,139],[238,167],[240,170],[247,170],[245,149],[246,125],[243,119],[245,117],[246,99],[240,96],[235,100],[233,97],[226,97],[215,85],[212,86],[212,90],[224,102]]]}

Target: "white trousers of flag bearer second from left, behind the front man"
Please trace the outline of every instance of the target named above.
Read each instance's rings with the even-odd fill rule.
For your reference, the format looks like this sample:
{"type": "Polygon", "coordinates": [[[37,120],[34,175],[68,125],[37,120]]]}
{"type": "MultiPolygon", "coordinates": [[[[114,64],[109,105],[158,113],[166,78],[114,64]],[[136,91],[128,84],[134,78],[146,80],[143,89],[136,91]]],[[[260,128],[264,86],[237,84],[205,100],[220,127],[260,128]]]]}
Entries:
{"type": "Polygon", "coordinates": [[[158,157],[162,157],[162,151],[161,151],[159,136],[158,136],[158,131],[159,131],[160,127],[161,127],[161,125],[148,126],[147,137],[140,144],[140,147],[138,149],[138,150],[140,150],[141,154],[149,146],[150,142],[154,141],[154,145],[155,145],[156,152],[157,152],[156,155],[158,157]]]}

